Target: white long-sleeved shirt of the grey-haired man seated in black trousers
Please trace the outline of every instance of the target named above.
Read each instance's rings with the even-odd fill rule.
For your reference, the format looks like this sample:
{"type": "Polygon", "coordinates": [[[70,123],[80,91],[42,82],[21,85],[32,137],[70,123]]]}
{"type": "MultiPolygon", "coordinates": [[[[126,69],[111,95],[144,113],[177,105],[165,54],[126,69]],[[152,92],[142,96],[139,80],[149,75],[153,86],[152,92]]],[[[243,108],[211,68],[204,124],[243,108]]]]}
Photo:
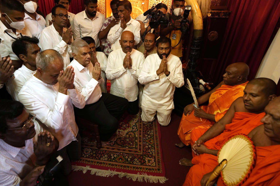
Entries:
{"type": "Polygon", "coordinates": [[[92,78],[92,63],[88,64],[87,67],[81,65],[75,59],[71,61],[69,66],[74,68],[75,77],[74,77],[74,85],[76,90],[81,92],[82,96],[85,99],[85,104],[95,103],[101,98],[102,92],[99,84],[104,83],[103,78],[99,81],[96,81],[92,78]]]}

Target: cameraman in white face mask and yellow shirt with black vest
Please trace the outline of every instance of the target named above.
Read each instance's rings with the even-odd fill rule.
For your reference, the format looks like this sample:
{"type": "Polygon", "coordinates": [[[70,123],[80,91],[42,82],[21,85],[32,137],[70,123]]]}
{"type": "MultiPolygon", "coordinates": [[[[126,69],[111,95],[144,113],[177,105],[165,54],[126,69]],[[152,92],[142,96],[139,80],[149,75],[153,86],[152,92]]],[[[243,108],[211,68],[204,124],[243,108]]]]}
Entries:
{"type": "Polygon", "coordinates": [[[183,56],[182,40],[184,40],[185,34],[182,35],[180,28],[181,21],[183,19],[182,13],[184,9],[184,0],[174,0],[172,6],[172,13],[165,14],[165,17],[169,20],[169,26],[160,29],[160,37],[166,36],[171,39],[171,54],[180,58],[181,61],[183,56]]]}

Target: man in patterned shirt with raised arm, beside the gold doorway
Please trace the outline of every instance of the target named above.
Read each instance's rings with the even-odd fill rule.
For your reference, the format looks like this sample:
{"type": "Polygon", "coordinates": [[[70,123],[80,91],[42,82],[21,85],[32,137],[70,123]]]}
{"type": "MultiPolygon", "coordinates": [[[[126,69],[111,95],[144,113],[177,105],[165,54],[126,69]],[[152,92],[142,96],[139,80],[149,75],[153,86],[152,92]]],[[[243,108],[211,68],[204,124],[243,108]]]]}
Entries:
{"type": "Polygon", "coordinates": [[[119,16],[119,11],[118,11],[118,3],[120,2],[120,0],[112,0],[110,2],[110,7],[112,10],[112,16],[107,17],[104,21],[104,24],[101,28],[101,31],[99,32],[98,36],[99,39],[101,40],[101,47],[103,46],[103,52],[105,53],[105,55],[108,57],[108,55],[110,54],[111,51],[113,51],[111,49],[111,43],[109,42],[107,35],[110,31],[110,29],[115,26],[116,24],[118,24],[118,22],[120,21],[120,16],[119,16]]]}

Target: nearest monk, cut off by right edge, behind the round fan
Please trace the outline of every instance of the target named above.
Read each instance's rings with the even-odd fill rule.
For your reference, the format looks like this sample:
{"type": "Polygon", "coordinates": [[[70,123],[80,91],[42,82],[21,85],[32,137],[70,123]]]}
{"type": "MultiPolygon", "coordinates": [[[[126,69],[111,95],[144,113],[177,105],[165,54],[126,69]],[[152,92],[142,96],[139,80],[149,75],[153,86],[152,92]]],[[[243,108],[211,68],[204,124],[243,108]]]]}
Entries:
{"type": "MultiPolygon", "coordinates": [[[[280,97],[272,100],[265,107],[265,116],[260,120],[263,124],[254,128],[248,136],[256,148],[255,167],[242,186],[269,185],[280,183],[280,97]]],[[[216,162],[218,165],[218,162],[216,162]]],[[[212,172],[203,176],[201,185],[204,186],[212,172]]],[[[214,180],[210,185],[216,182],[214,180]]],[[[218,186],[222,186],[221,177],[218,186]]]]}

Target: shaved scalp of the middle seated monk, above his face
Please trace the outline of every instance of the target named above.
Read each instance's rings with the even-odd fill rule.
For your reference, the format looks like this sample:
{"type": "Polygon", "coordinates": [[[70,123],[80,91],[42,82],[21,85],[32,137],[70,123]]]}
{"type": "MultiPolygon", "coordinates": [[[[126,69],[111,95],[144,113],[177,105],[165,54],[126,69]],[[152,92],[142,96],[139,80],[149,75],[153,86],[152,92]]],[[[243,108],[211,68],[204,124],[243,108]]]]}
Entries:
{"type": "Polygon", "coordinates": [[[277,92],[276,83],[269,78],[255,78],[249,81],[248,84],[257,85],[267,96],[274,95],[277,92]]]}

